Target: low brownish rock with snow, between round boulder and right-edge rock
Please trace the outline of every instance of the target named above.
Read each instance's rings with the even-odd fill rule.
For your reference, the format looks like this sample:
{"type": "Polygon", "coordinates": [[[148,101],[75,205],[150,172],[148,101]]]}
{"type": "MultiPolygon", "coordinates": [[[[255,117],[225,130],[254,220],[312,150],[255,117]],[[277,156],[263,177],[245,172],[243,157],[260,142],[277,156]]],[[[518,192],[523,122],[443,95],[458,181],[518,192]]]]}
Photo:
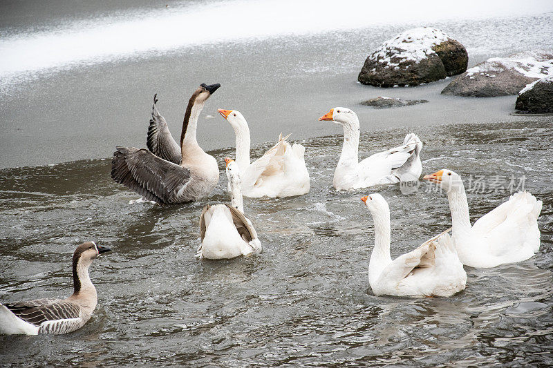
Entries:
{"type": "Polygon", "coordinates": [[[444,95],[493,97],[516,95],[530,82],[553,73],[553,55],[543,50],[492,57],[453,79],[444,95]]]}

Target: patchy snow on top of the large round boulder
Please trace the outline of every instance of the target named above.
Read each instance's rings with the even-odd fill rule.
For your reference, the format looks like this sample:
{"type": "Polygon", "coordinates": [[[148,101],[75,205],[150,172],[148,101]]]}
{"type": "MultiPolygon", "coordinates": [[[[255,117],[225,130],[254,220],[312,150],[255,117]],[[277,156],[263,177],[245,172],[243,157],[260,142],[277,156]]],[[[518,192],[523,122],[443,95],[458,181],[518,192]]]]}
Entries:
{"type": "Polygon", "coordinates": [[[393,39],[382,43],[370,58],[382,64],[385,68],[397,68],[404,61],[421,61],[435,54],[432,48],[440,43],[451,39],[441,30],[435,28],[413,28],[405,30],[393,39]],[[399,62],[391,62],[391,58],[399,62]],[[398,60],[399,59],[399,60],[398,60]]]}

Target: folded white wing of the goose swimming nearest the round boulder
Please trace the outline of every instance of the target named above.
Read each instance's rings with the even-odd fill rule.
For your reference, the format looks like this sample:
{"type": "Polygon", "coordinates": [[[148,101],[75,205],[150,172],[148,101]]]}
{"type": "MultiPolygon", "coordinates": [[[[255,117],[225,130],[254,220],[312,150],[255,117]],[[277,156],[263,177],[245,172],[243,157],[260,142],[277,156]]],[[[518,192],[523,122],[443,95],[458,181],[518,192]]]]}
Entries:
{"type": "Polygon", "coordinates": [[[418,137],[411,133],[405,137],[402,146],[375,153],[359,162],[359,166],[363,171],[371,171],[375,176],[390,175],[393,170],[400,168],[415,153],[417,140],[418,137]]]}

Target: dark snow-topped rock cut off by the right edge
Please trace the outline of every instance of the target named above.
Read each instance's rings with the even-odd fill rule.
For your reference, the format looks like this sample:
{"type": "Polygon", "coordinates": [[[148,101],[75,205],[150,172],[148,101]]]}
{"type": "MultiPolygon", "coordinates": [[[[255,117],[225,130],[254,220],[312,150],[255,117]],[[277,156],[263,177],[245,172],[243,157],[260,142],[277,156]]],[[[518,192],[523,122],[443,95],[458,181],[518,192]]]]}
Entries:
{"type": "Polygon", "coordinates": [[[517,110],[553,113],[553,74],[528,84],[516,97],[517,110]]]}

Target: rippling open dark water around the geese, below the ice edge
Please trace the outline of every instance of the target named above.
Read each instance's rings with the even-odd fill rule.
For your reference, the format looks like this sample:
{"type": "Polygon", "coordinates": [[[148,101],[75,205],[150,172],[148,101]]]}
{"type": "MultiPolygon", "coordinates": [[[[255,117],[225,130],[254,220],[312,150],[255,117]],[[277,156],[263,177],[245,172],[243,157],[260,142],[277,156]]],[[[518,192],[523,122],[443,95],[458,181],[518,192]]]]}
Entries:
{"type": "MultiPolygon", "coordinates": [[[[71,254],[79,242],[96,240],[113,252],[91,267],[99,304],[84,328],[66,336],[0,336],[0,364],[550,366],[552,122],[412,129],[426,144],[423,173],[450,168],[466,185],[470,175],[485,175],[487,183],[514,175],[517,184],[525,175],[525,187],[544,204],[534,258],[465,267],[467,289],[452,298],[372,295],[373,222],[359,197],[378,191],[388,200],[393,256],[447,229],[449,208],[426,183],[413,195],[398,186],[334,191],[341,135],[301,142],[308,195],[245,200],[265,251],[220,262],[194,258],[206,201],[130,204],[138,196],[111,181],[109,159],[4,169],[2,302],[71,293],[71,254]]],[[[362,157],[402,142],[406,133],[362,135],[362,157]]],[[[254,147],[254,157],[271,145],[254,147]]],[[[213,154],[220,163],[233,155],[213,154]]],[[[225,187],[223,179],[207,202],[229,200],[225,187]]],[[[508,195],[469,192],[472,220],[508,195]]]]}

